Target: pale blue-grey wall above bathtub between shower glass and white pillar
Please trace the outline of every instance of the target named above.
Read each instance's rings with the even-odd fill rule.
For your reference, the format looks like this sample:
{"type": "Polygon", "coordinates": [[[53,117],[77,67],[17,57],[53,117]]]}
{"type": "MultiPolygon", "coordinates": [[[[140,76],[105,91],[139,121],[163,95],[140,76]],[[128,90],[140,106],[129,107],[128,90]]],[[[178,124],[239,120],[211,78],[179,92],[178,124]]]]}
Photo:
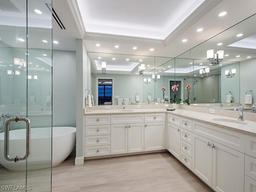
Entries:
{"type": "Polygon", "coordinates": [[[52,126],[76,126],[76,52],[52,51],[52,126]]]}

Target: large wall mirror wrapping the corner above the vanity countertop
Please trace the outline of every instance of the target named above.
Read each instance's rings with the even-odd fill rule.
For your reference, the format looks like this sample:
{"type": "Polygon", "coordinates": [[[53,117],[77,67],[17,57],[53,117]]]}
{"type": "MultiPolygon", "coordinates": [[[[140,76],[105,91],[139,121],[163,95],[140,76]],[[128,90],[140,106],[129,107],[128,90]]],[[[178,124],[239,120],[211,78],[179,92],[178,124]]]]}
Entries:
{"type": "MultiPolygon", "coordinates": [[[[191,104],[208,106],[207,104],[220,103],[221,100],[226,102],[229,94],[232,94],[231,106],[238,105],[239,102],[244,103],[246,92],[256,91],[256,85],[251,83],[256,62],[256,29],[251,26],[254,26],[255,21],[256,15],[253,15],[176,58],[89,52],[92,92],[96,91],[94,82],[97,77],[114,76],[115,82],[118,83],[114,86],[113,104],[117,104],[115,96],[130,98],[129,104],[136,104],[138,102],[132,102],[136,101],[136,94],[141,104],[147,103],[148,98],[150,104],[162,102],[163,98],[174,96],[171,86],[175,83],[179,83],[177,98],[182,100],[189,98],[191,104]],[[237,36],[238,34],[242,36],[237,36]],[[210,65],[207,60],[206,52],[210,49],[213,49],[214,53],[224,50],[224,59],[218,65],[210,65]],[[98,59],[99,57],[101,59],[98,59]],[[130,63],[132,66],[130,70],[122,68],[119,72],[112,71],[111,67],[116,67],[113,62],[118,58],[130,63]],[[103,60],[107,62],[106,74],[101,73],[103,60]],[[138,66],[142,63],[145,64],[144,74],[138,75],[138,66]],[[232,72],[233,69],[236,70],[236,74],[228,78],[225,72],[228,70],[232,72]],[[200,74],[200,70],[204,72],[200,74]],[[153,80],[152,75],[156,81],[153,80]],[[158,80],[157,75],[160,76],[158,80]],[[187,84],[192,85],[189,96],[188,91],[185,90],[187,84]],[[161,90],[162,86],[166,87],[164,94],[161,90]]],[[[118,62],[118,65],[127,64],[118,62]]],[[[253,99],[252,103],[255,101],[253,99]]]]}

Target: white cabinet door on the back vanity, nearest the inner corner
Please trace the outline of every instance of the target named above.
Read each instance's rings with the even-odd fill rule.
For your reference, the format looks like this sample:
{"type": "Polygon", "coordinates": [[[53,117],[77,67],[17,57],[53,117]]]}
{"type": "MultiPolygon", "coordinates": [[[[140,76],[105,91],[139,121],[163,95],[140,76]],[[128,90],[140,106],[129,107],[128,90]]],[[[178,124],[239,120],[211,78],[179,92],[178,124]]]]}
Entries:
{"type": "Polygon", "coordinates": [[[144,128],[144,150],[165,149],[165,122],[146,123],[144,128]]]}

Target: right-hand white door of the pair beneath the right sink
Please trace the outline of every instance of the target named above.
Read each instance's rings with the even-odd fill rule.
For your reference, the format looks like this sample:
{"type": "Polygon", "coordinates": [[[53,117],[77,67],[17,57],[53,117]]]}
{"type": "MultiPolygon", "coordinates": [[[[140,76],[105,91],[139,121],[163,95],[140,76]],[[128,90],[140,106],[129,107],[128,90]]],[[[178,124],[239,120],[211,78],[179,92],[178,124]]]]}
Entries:
{"type": "Polygon", "coordinates": [[[244,154],[212,142],[212,188],[216,192],[244,191],[244,154]]]}

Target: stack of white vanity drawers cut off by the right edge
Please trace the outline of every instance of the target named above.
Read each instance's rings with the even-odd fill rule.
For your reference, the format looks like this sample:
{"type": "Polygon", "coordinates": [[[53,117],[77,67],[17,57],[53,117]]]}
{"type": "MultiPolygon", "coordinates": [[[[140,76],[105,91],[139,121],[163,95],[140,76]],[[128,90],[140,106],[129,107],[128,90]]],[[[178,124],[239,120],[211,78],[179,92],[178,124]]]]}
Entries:
{"type": "Polygon", "coordinates": [[[256,192],[256,136],[245,135],[244,192],[256,192]]]}

